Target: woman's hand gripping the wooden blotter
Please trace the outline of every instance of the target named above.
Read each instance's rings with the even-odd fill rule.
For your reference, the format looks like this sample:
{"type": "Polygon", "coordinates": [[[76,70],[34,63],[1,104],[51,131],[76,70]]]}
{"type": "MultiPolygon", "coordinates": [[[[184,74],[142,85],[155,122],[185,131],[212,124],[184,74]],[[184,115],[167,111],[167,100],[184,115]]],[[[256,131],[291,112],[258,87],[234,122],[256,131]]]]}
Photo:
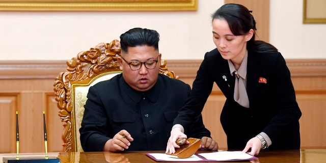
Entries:
{"type": "Polygon", "coordinates": [[[177,141],[177,139],[179,139],[179,138],[187,138],[187,135],[185,135],[184,133],[181,132],[181,128],[176,127],[171,130],[171,136],[169,138],[167,150],[165,153],[172,154],[172,153],[175,153],[175,148],[180,148],[180,146],[178,146],[175,143],[175,141],[177,141]]]}

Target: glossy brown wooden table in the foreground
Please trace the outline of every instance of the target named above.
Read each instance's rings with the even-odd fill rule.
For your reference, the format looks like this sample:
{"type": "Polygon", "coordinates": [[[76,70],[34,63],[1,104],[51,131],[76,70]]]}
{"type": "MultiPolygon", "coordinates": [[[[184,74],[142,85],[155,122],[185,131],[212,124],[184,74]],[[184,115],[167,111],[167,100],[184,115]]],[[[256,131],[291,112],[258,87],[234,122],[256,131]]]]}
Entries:
{"type": "MultiPolygon", "coordinates": [[[[151,163],[156,162],[145,155],[148,153],[164,153],[165,151],[130,151],[130,152],[71,152],[71,153],[48,153],[48,156],[56,156],[61,162],[120,162],[120,163],[151,163]]],[[[198,151],[207,152],[207,151],[198,151]]],[[[0,154],[0,162],[3,157],[16,154],[0,154]]],[[[44,156],[42,153],[22,153],[20,157],[44,156]]],[[[247,162],[326,162],[326,149],[301,149],[301,150],[265,150],[257,156],[258,159],[247,162]]],[[[246,161],[241,161],[246,162],[246,161]]]]}

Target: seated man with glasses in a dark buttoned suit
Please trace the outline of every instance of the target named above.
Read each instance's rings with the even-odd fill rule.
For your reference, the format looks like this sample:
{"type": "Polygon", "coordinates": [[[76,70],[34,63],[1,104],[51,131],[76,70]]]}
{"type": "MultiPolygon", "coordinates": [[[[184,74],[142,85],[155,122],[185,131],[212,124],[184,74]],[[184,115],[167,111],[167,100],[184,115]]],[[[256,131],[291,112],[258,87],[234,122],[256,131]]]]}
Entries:
{"type": "MultiPolygon", "coordinates": [[[[165,150],[170,129],[191,88],[159,74],[159,34],[135,28],[120,36],[121,74],[89,89],[80,131],[84,151],[165,150]]],[[[217,150],[202,116],[186,131],[217,150]]]]}

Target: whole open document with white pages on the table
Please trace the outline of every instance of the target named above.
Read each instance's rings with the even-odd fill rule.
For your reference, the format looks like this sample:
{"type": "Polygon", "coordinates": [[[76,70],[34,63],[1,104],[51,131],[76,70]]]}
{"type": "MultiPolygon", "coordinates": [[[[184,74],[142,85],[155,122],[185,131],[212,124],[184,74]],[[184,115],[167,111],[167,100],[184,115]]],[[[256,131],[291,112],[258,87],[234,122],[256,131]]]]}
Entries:
{"type": "Polygon", "coordinates": [[[242,153],[241,151],[220,151],[211,153],[195,153],[188,158],[178,158],[173,155],[165,153],[146,153],[155,161],[160,162],[210,162],[210,161],[238,161],[238,160],[252,160],[257,157],[248,153],[242,153]]]}

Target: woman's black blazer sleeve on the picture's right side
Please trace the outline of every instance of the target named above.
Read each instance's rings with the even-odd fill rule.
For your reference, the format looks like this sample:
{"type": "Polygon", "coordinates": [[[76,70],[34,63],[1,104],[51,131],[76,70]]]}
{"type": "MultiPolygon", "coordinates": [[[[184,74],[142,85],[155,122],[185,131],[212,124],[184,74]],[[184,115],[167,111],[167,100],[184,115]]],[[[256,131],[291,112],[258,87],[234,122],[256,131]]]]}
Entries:
{"type": "Polygon", "coordinates": [[[275,103],[274,106],[276,107],[277,113],[271,118],[270,122],[263,129],[263,132],[268,135],[273,144],[279,141],[285,141],[279,140],[280,136],[285,136],[283,139],[296,139],[300,142],[298,120],[302,113],[295,99],[290,71],[280,53],[275,67],[275,75],[273,76],[274,92],[271,93],[271,98],[275,99],[273,102],[275,103]],[[294,130],[296,132],[289,132],[287,130],[294,130]],[[284,135],[284,133],[287,133],[287,135],[284,135]]]}

